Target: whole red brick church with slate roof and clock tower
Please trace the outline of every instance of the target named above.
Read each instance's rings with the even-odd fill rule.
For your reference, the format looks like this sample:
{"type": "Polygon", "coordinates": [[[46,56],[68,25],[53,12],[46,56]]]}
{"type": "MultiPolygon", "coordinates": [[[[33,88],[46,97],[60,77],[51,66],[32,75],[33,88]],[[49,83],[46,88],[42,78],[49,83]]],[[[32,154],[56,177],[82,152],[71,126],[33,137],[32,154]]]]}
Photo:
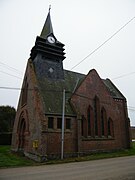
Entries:
{"type": "Polygon", "coordinates": [[[87,75],[63,69],[64,55],[49,11],[28,59],[12,150],[44,161],[60,158],[62,142],[64,157],[130,148],[126,98],[94,69],[87,75]]]}

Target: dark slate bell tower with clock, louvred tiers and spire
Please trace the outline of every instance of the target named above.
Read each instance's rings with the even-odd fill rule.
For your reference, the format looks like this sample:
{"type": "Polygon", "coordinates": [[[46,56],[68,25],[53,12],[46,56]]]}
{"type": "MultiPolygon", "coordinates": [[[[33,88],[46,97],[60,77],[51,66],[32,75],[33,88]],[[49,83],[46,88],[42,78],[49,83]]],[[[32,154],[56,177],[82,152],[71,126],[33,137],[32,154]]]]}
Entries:
{"type": "Polygon", "coordinates": [[[53,33],[49,8],[41,35],[37,36],[35,46],[30,54],[37,76],[52,80],[63,80],[64,50],[64,44],[59,42],[53,33]]]}

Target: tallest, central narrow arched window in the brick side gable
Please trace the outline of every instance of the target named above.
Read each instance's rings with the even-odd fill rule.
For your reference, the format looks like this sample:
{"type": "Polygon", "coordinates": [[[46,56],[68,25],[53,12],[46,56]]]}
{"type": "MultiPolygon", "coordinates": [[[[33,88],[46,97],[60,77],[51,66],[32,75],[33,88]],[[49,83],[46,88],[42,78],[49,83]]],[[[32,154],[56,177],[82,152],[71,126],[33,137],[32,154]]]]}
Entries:
{"type": "Polygon", "coordinates": [[[100,102],[97,96],[94,98],[95,136],[100,135],[100,102]]]}

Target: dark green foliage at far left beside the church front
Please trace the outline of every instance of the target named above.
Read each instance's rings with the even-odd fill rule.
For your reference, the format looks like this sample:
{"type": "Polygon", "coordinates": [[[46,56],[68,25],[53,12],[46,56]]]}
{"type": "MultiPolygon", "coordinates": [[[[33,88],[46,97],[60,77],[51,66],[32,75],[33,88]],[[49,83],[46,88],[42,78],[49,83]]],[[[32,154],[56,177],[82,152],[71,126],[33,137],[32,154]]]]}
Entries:
{"type": "Polygon", "coordinates": [[[11,106],[0,106],[0,133],[11,132],[16,110],[11,106]]]}

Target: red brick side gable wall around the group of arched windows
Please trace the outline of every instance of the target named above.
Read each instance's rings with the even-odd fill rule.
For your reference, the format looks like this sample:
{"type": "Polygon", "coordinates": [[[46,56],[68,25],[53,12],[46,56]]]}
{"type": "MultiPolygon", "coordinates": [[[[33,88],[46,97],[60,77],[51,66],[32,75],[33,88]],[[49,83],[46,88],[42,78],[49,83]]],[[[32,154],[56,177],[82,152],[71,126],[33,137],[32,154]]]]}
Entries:
{"type": "MultiPolygon", "coordinates": [[[[99,112],[101,112],[102,107],[104,107],[107,119],[111,118],[113,121],[114,136],[96,137],[95,135],[94,138],[80,136],[80,152],[128,148],[130,138],[127,129],[129,129],[129,124],[123,100],[114,100],[97,73],[92,71],[86,76],[85,80],[71,99],[74,108],[77,110],[78,116],[83,115],[87,118],[87,109],[89,105],[94,109],[93,100],[95,96],[99,98],[99,112]]],[[[100,127],[101,126],[99,125],[99,128],[100,127]]]]}

